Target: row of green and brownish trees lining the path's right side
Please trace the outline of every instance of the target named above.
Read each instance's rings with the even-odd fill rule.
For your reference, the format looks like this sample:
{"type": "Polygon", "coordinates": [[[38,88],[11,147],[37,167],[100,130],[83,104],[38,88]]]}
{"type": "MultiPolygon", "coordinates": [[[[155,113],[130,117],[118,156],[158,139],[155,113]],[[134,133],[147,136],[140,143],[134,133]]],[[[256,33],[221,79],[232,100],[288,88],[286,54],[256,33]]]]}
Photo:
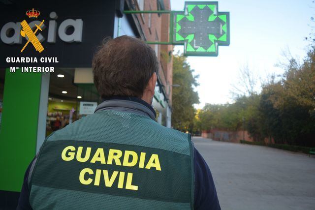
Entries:
{"type": "Polygon", "coordinates": [[[315,147],[315,47],[301,65],[291,59],[282,78],[271,79],[259,94],[239,95],[233,104],[206,104],[197,124],[202,130],[238,130],[244,119],[255,141],[315,147]]]}

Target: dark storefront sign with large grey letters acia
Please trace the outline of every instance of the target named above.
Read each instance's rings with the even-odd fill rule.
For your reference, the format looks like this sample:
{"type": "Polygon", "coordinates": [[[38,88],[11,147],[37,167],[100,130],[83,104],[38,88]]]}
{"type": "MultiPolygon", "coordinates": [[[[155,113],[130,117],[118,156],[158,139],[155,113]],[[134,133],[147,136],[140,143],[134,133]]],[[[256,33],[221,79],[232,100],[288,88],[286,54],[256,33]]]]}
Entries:
{"type": "Polygon", "coordinates": [[[7,57],[56,57],[54,67],[91,67],[97,46],[113,37],[114,18],[115,1],[0,3],[0,67],[10,67],[7,57]]]}

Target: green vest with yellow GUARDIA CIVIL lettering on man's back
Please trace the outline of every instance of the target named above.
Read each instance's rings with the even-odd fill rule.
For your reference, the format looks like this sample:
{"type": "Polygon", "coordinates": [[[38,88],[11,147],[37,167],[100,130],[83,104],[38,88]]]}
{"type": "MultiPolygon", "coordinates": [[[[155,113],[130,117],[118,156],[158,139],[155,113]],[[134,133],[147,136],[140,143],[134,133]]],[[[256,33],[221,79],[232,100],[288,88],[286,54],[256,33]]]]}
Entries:
{"type": "Polygon", "coordinates": [[[193,209],[190,135],[98,111],[46,138],[30,181],[33,209],[193,209]]]}

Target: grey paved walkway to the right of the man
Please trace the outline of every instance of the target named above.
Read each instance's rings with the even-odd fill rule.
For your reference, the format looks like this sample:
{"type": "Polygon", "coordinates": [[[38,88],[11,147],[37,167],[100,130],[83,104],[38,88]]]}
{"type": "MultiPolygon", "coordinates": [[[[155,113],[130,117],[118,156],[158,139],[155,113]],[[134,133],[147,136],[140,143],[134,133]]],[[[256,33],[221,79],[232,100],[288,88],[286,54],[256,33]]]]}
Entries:
{"type": "Polygon", "coordinates": [[[315,158],[262,146],[193,138],[222,210],[315,210],[315,158]]]}

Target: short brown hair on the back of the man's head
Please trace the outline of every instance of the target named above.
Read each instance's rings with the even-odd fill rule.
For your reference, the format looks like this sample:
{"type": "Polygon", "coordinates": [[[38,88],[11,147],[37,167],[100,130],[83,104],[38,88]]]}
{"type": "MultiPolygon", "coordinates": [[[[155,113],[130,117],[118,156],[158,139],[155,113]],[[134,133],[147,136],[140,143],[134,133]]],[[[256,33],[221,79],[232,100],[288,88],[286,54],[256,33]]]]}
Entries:
{"type": "Polygon", "coordinates": [[[144,41],[130,36],[107,39],[92,63],[94,84],[102,98],[141,98],[154,72],[158,71],[155,51],[144,41]]]}

